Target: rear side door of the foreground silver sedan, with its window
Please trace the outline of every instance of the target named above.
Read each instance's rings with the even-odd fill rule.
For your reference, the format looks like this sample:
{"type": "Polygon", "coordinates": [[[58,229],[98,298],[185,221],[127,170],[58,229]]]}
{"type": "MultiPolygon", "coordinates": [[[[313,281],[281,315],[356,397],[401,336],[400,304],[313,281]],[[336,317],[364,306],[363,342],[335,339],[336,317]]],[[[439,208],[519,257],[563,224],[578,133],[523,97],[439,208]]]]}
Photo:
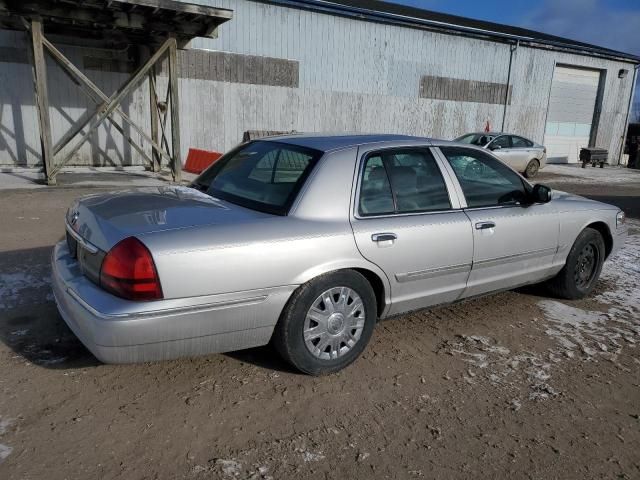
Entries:
{"type": "Polygon", "coordinates": [[[456,186],[428,147],[360,149],[351,223],[358,249],[389,278],[390,314],[460,297],[473,234],[456,186]]]}

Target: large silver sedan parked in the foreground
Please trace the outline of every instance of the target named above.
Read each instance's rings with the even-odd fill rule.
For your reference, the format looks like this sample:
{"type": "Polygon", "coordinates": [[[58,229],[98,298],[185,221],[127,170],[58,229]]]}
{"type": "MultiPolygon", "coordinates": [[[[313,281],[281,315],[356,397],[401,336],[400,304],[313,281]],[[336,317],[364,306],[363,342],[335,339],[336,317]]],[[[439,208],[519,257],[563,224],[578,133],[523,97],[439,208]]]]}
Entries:
{"type": "Polygon", "coordinates": [[[53,291],[100,360],[272,342],[315,375],[389,316],[545,281],[584,297],[626,234],[618,208],[485,149],[390,135],[253,141],[191,187],[84,197],[65,223],[53,291]]]}

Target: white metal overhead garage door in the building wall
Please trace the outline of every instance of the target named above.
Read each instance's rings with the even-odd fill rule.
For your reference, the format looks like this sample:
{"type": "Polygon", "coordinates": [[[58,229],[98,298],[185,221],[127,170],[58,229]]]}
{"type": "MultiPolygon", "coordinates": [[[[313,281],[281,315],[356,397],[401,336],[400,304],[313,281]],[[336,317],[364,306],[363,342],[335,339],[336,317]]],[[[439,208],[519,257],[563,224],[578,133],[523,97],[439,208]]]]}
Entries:
{"type": "Polygon", "coordinates": [[[550,162],[577,162],[589,146],[599,81],[597,70],[556,67],[544,137],[550,162]]]}

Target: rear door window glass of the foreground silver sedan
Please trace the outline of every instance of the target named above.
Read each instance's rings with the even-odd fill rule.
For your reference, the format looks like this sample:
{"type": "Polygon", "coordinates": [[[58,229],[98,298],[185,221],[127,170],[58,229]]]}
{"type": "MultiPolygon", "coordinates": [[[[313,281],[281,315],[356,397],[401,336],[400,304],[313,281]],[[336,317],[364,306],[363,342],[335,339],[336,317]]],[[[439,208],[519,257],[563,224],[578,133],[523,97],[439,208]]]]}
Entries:
{"type": "Polygon", "coordinates": [[[360,215],[450,208],[446,184],[428,150],[386,150],[367,157],[360,187],[360,215]]]}

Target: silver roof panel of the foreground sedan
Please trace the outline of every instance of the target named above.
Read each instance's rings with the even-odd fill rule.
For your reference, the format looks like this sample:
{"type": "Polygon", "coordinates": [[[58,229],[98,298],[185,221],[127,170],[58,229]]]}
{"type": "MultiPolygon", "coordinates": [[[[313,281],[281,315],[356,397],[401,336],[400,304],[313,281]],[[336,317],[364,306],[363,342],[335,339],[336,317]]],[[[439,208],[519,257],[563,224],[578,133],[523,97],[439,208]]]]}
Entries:
{"type": "Polygon", "coordinates": [[[296,133],[291,135],[277,135],[273,137],[264,137],[258,140],[270,142],[284,142],[300,147],[312,148],[322,152],[342,150],[344,148],[356,147],[371,143],[393,143],[403,141],[422,141],[425,144],[433,144],[440,142],[425,137],[414,137],[411,135],[395,135],[395,134],[326,134],[326,133],[296,133]]]}

